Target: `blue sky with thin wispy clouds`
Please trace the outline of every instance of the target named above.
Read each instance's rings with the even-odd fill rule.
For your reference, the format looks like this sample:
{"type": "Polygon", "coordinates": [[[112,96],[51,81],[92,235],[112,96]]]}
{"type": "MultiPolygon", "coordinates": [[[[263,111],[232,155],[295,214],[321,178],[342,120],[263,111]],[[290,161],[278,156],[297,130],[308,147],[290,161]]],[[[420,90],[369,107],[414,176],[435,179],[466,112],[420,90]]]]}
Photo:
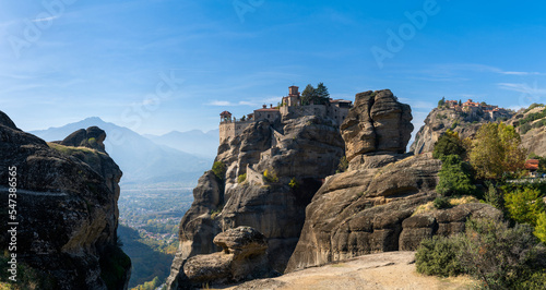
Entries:
{"type": "Polygon", "coordinates": [[[26,131],[92,116],[207,131],[223,110],[323,82],[352,100],[390,88],[417,131],[442,96],[545,102],[545,14],[539,1],[0,0],[0,110],[26,131]]]}

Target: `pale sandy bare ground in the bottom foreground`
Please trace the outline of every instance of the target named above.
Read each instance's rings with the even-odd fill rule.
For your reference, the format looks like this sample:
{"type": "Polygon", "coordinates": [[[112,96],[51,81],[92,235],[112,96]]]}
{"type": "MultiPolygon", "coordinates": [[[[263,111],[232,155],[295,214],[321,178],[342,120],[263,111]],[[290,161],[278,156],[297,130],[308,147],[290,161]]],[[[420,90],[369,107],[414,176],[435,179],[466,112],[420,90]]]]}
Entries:
{"type": "Polygon", "coordinates": [[[472,289],[468,277],[441,279],[415,271],[415,252],[365,255],[226,289],[472,289]]]}

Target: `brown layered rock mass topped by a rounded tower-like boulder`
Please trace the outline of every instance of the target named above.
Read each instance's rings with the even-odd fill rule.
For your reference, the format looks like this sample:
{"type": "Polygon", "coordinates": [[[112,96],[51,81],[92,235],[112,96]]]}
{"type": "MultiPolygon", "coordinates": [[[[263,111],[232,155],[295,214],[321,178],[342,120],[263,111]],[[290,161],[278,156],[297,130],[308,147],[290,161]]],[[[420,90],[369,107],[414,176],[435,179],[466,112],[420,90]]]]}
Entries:
{"type": "Polygon", "coordinates": [[[468,216],[500,215],[479,204],[416,214],[437,195],[441,162],[430,154],[403,154],[412,130],[404,122],[411,119],[410,107],[389,90],[356,96],[341,126],[349,168],[329,177],[307,206],[286,271],[363,254],[415,250],[425,238],[464,230],[468,216]],[[375,108],[378,104],[381,113],[375,108]]]}

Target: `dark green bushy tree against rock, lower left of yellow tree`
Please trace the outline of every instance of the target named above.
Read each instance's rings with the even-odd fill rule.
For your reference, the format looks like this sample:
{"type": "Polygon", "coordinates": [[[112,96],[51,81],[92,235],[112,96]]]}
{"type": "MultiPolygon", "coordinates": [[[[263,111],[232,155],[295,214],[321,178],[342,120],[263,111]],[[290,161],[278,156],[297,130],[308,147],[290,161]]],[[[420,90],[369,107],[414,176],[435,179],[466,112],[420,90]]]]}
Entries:
{"type": "Polygon", "coordinates": [[[471,168],[459,155],[448,155],[443,158],[438,177],[440,181],[436,191],[442,196],[468,195],[476,191],[471,168]]]}

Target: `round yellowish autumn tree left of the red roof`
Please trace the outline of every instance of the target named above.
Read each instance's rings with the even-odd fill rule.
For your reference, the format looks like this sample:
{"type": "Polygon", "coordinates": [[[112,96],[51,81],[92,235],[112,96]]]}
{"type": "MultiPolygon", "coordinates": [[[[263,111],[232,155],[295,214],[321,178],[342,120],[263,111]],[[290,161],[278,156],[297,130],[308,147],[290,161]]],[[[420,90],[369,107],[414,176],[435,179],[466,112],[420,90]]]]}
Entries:
{"type": "Polygon", "coordinates": [[[499,178],[525,165],[525,149],[514,128],[505,123],[483,124],[474,138],[470,160],[479,178],[499,178]]]}

